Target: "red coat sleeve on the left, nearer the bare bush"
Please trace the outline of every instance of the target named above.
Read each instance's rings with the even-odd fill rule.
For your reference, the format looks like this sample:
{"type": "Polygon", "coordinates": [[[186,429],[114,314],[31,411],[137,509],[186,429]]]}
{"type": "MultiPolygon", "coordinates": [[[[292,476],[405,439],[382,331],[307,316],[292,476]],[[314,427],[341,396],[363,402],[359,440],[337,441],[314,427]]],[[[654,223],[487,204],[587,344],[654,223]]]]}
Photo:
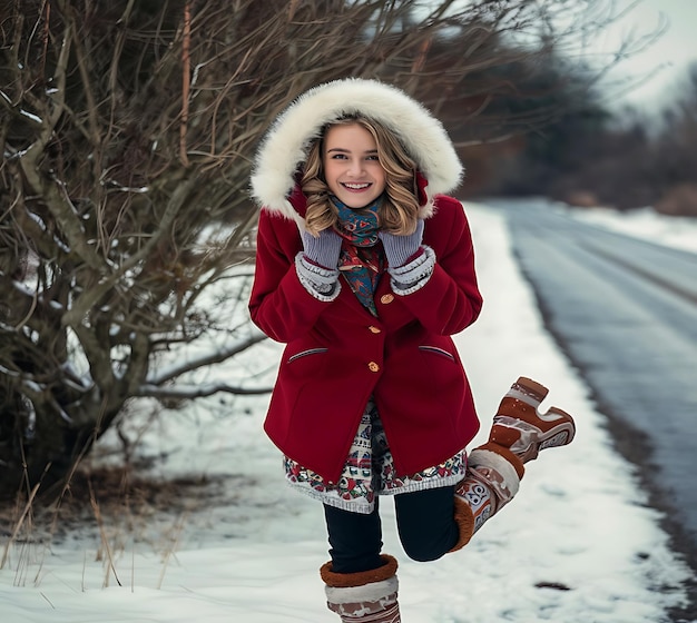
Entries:
{"type": "Polygon", "coordinates": [[[295,256],[302,248],[294,221],[262,210],[249,315],[268,337],[281,343],[307,333],[332,305],[314,298],[300,283],[295,256]]]}

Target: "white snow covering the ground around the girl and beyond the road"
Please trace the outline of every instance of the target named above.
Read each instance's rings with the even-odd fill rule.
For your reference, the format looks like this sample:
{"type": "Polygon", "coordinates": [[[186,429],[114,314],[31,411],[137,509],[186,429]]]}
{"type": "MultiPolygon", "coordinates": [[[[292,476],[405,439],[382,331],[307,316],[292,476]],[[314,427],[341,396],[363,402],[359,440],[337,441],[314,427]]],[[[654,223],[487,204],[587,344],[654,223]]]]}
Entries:
{"type": "MultiPolygon", "coordinates": [[[[575,414],[578,434],[571,446],[531,463],[519,496],[468,547],[441,561],[404,556],[392,503],[383,502],[385,552],[400,561],[403,621],[660,622],[684,600],[689,571],[669,551],[632,467],[612,451],[583,379],[542,327],[501,214],[481,205],[467,210],[485,305],[457,340],[483,421],[480,436],[519,375],[548,385],[543,408],[575,414]]],[[[650,215],[639,228],[634,217],[578,215],[655,241],[677,222],[650,215]]],[[[697,250],[697,220],[680,229],[697,250]]],[[[262,353],[273,375],[278,347],[268,343],[262,353]]],[[[49,544],[13,543],[0,571],[2,621],[335,621],[317,574],[327,557],[322,511],[283,482],[278,452],[262,432],[267,400],[217,397],[159,418],[141,445],[163,457],[155,472],[222,476],[218,502],[130,531],[105,517],[102,537],[81,530],[49,544]]]]}

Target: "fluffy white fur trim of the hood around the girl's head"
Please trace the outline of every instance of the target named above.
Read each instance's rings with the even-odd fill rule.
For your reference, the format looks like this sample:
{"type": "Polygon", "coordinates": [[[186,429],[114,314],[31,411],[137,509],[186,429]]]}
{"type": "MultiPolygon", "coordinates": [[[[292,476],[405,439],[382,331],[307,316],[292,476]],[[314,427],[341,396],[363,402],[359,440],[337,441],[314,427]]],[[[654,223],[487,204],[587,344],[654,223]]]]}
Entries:
{"type": "Polygon", "coordinates": [[[310,144],[326,123],[354,113],[392,130],[416,161],[429,181],[424,216],[429,216],[433,195],[451,192],[459,186],[462,165],[448,132],[429,110],[395,87],[347,78],[310,89],[274,121],[254,161],[252,196],[259,206],[297,219],[288,196],[310,144]]]}

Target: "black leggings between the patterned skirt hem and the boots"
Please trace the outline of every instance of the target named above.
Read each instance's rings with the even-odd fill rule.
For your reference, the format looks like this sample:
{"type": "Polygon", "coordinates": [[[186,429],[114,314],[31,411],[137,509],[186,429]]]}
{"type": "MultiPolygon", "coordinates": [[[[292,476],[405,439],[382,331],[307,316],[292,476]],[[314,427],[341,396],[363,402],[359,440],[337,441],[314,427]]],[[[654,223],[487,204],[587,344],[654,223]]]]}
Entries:
{"type": "MultiPolygon", "coordinates": [[[[453,518],[454,490],[454,486],[446,486],[394,496],[400,541],[410,558],[435,561],[458,543],[460,535],[453,518]]],[[[383,565],[377,498],[370,515],[327,505],[324,515],[335,573],[372,571],[383,565]]]]}

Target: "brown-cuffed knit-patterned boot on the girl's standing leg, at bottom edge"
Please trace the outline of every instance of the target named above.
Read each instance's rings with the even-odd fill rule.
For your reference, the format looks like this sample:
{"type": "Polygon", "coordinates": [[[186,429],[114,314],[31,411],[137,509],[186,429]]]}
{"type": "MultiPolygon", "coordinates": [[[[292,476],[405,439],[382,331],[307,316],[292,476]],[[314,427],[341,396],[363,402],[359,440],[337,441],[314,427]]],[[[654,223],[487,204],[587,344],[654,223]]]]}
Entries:
{"type": "Polygon", "coordinates": [[[383,566],[359,573],[334,573],[332,563],[320,568],[326,584],[326,605],[343,623],[401,623],[396,601],[396,560],[383,554],[383,566]]]}

